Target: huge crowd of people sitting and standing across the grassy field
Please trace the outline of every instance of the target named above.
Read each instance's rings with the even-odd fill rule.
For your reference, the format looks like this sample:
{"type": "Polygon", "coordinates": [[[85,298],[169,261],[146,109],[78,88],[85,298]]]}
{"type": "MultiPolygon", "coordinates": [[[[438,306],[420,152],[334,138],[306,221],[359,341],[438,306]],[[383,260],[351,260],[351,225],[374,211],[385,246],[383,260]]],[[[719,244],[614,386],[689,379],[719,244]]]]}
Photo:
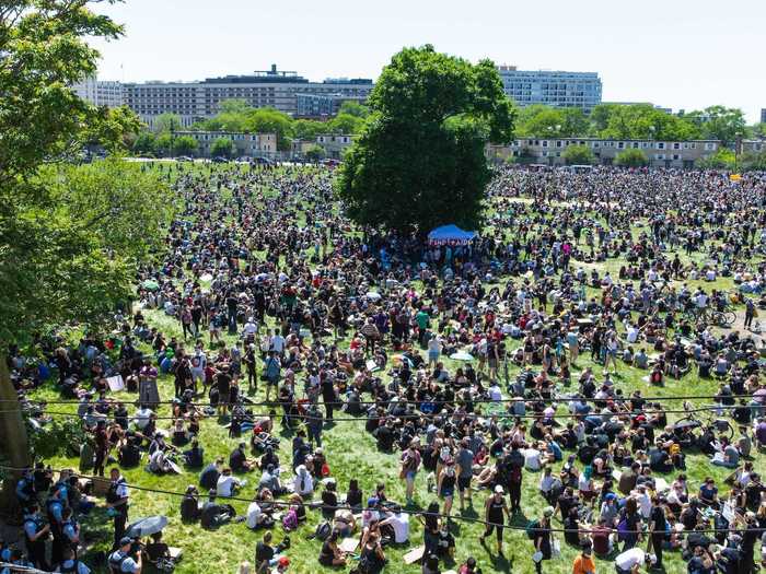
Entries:
{"type": "MultiPolygon", "coordinates": [[[[503,559],[514,529],[531,543],[515,560],[537,572],[562,547],[576,550],[574,574],[662,570],[668,553],[689,574],[753,572],[766,528],[765,176],[497,168],[486,230],[440,245],[356,233],[332,179],[294,166],[177,172],[184,212],[115,331],[40,336],[36,358],[10,349],[25,402],[48,380],[77,402],[80,471],[119,464],[103,479],[113,572],[172,569],[161,539],[127,536],[120,469],[142,459],[154,475],[199,473],[184,520],[264,529],[257,572],[289,567],[289,532],[315,509],[323,566],[375,573],[388,549],[422,544],[423,573],[476,573],[485,557],[464,555],[455,534],[474,507],[486,553],[503,559]],[[736,323],[721,325],[726,313],[736,323]],[[135,396],[113,396],[115,377],[135,396]],[[159,393],[165,378],[173,396],[159,393]],[[669,387],[688,402],[657,398],[669,387]],[[375,477],[368,497],[360,477],[344,477],[339,496],[323,446],[335,420],[369,433],[398,477],[375,477]],[[225,425],[228,460],[206,458],[209,424],[225,425]],[[711,470],[693,483],[689,457],[726,480],[711,470]],[[397,480],[404,500],[386,494],[397,480]],[[230,503],[248,483],[237,516],[230,503]],[[527,517],[523,493],[535,491],[544,509],[527,517]]],[[[28,415],[53,417],[33,402],[28,415]]],[[[86,572],[89,488],[31,469],[16,491],[25,544],[3,547],[3,561],[86,572]]]]}

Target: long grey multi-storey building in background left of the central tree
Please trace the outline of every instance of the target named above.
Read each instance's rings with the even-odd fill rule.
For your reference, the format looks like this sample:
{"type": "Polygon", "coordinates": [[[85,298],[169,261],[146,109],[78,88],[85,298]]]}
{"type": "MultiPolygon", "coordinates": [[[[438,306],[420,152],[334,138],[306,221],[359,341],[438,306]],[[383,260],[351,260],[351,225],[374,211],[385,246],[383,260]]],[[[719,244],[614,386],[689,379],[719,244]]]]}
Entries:
{"type": "Polygon", "coordinates": [[[195,119],[214,116],[225,99],[244,99],[253,107],[274,107],[286,114],[298,113],[298,94],[340,94],[367,97],[372,90],[368,79],[327,79],[310,82],[297,72],[256,71],[253,75],[224,75],[201,82],[146,82],[125,84],[125,101],[142,119],[172,113],[188,125],[195,119]]]}

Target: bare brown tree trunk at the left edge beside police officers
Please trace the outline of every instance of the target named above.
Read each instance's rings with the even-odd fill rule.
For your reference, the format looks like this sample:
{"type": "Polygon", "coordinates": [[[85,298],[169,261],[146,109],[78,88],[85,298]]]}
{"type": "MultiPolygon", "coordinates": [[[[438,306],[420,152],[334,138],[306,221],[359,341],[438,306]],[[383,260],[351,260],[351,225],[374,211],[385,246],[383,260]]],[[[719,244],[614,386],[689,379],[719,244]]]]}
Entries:
{"type": "MultiPolygon", "coordinates": [[[[26,425],[21,415],[19,396],[11,383],[8,372],[8,362],[4,353],[0,353],[0,450],[4,454],[10,465],[15,468],[26,468],[31,465],[30,446],[26,438],[26,425]]],[[[5,480],[0,495],[0,512],[9,517],[19,517],[20,507],[16,502],[16,482],[22,471],[13,470],[3,472],[5,480]]]]}

